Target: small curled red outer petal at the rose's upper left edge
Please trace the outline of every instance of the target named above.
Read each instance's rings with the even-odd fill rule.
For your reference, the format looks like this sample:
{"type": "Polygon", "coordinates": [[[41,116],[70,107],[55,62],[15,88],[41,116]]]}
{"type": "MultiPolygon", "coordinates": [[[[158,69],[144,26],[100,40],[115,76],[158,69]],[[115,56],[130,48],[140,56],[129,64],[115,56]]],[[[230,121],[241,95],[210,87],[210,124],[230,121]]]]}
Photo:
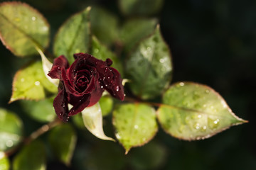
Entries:
{"type": "Polygon", "coordinates": [[[60,55],[60,57],[55,58],[53,61],[53,67],[50,69],[48,76],[52,79],[60,79],[61,69],[68,69],[68,67],[68,60],[64,57],[64,55],[60,55]]]}

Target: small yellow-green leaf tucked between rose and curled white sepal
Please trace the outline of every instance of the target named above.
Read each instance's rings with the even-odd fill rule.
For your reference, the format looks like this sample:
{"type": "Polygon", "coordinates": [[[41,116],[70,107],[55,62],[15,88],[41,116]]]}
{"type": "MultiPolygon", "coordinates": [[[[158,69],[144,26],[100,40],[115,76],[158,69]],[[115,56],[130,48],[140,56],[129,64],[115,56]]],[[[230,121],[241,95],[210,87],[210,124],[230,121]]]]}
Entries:
{"type": "Polygon", "coordinates": [[[103,116],[108,115],[112,111],[114,102],[111,96],[102,96],[99,103],[103,116]]]}

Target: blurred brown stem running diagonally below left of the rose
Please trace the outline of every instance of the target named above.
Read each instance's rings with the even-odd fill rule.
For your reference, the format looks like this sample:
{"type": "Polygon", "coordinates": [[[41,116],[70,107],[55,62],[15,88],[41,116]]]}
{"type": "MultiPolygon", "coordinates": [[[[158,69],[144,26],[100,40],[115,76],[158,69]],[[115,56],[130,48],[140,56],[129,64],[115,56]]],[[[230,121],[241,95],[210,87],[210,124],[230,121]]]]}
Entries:
{"type": "Polygon", "coordinates": [[[16,147],[8,150],[7,152],[5,152],[4,154],[9,157],[11,154],[14,154],[20,147],[22,147],[24,144],[28,145],[30,142],[32,142],[33,140],[36,140],[36,138],[38,138],[39,136],[43,135],[44,133],[48,132],[49,130],[51,130],[52,128],[54,128],[56,125],[61,124],[62,122],[58,119],[55,118],[55,120],[53,120],[52,122],[41,126],[41,128],[38,128],[38,130],[36,130],[35,132],[32,132],[30,136],[26,137],[23,140],[23,143],[20,143],[19,145],[17,145],[16,147]]]}

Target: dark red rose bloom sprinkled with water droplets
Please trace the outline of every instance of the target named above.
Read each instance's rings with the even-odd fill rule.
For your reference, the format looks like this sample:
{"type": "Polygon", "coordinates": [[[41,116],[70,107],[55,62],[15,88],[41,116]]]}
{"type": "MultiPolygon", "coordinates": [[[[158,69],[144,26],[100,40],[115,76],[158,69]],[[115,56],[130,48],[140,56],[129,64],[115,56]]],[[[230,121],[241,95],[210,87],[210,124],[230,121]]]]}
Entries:
{"type": "Polygon", "coordinates": [[[93,106],[107,90],[112,96],[124,100],[122,78],[117,69],[110,67],[112,60],[97,60],[92,55],[78,53],[75,62],[69,67],[68,60],[61,55],[55,58],[48,76],[60,79],[58,95],[53,101],[58,118],[68,121],[70,115],[80,113],[93,106]],[[73,108],[68,110],[68,103],[73,108]]]}

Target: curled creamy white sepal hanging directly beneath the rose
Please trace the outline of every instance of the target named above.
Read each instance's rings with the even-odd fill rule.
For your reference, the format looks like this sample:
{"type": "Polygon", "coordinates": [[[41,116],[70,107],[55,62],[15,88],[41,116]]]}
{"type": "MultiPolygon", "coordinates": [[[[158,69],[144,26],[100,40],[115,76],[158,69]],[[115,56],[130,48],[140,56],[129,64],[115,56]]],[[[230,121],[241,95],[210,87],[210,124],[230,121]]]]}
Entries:
{"type": "Polygon", "coordinates": [[[112,139],[111,137],[107,137],[103,132],[102,111],[100,108],[100,103],[96,103],[94,106],[85,108],[82,111],[82,120],[87,130],[89,130],[96,137],[102,140],[114,141],[114,139],[112,139]]]}

